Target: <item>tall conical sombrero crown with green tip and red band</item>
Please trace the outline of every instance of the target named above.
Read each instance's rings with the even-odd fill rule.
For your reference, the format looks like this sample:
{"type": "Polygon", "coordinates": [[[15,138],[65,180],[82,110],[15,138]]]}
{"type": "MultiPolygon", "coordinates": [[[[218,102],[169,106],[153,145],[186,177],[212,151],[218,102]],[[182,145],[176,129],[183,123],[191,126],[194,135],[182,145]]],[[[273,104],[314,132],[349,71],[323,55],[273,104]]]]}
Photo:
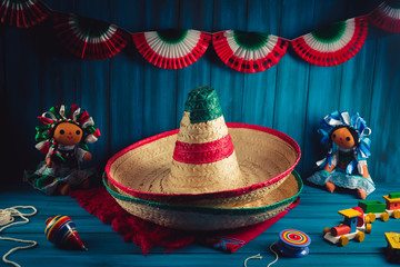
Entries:
{"type": "Polygon", "coordinates": [[[184,106],[168,179],[169,192],[198,194],[244,186],[216,90],[192,90],[184,106]]]}

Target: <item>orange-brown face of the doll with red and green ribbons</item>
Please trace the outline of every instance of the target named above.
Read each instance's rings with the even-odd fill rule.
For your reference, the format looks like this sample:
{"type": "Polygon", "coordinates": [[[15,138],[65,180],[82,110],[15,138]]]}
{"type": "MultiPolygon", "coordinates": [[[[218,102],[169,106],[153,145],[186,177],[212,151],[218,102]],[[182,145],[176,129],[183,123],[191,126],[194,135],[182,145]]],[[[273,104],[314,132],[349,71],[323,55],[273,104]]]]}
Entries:
{"type": "Polygon", "coordinates": [[[72,146],[82,139],[82,129],[71,122],[61,122],[54,129],[54,140],[63,146],[72,146]]]}

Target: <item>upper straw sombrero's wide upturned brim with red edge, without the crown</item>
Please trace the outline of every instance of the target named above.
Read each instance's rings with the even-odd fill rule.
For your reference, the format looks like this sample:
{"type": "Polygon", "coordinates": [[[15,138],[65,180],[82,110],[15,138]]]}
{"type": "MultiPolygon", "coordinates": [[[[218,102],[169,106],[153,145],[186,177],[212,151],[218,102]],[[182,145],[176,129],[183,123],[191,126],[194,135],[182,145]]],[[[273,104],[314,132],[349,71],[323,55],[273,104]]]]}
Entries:
{"type": "MultiPolygon", "coordinates": [[[[118,189],[136,198],[157,202],[197,201],[214,206],[227,201],[251,201],[270,194],[299,162],[300,148],[289,136],[261,126],[227,126],[242,172],[242,179],[237,184],[221,181],[219,186],[223,189],[203,189],[201,180],[193,177],[189,182],[191,187],[184,192],[166,192],[167,189],[174,189],[166,179],[171,169],[179,130],[143,139],[118,152],[106,166],[107,177],[118,189]]],[[[212,171],[212,168],[208,170],[212,171]]]]}

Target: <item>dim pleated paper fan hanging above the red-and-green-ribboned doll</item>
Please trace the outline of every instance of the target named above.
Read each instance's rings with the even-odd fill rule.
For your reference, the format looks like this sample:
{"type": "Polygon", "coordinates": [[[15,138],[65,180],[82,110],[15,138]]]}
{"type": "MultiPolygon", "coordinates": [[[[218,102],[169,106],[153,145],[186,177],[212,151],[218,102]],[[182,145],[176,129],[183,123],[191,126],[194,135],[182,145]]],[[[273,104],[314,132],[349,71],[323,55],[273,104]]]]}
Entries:
{"type": "Polygon", "coordinates": [[[64,48],[82,59],[110,58],[129,40],[118,26],[72,13],[54,13],[53,29],[64,48]]]}

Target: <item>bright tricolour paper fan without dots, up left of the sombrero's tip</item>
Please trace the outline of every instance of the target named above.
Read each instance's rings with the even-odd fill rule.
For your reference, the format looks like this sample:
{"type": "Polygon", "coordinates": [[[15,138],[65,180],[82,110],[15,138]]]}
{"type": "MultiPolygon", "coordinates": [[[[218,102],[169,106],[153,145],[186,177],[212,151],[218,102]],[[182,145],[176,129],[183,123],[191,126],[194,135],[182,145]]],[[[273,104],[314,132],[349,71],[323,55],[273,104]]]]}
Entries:
{"type": "Polygon", "coordinates": [[[134,46],[150,63],[163,69],[181,69],[206,52],[211,36],[197,30],[161,30],[132,34],[134,46]]]}

